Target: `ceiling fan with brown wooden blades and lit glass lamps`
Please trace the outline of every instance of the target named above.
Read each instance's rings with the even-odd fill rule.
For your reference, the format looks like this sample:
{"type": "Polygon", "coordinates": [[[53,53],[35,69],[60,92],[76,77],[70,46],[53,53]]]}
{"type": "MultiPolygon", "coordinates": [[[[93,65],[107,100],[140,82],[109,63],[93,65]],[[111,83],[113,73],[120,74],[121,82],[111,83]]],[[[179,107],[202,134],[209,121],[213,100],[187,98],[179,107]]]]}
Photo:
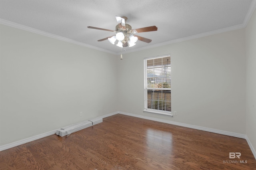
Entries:
{"type": "Polygon", "coordinates": [[[108,30],[104,28],[97,28],[97,27],[91,27],[91,26],[88,26],[87,28],[115,32],[116,35],[103,38],[101,40],[98,40],[98,42],[108,39],[110,43],[115,44],[116,40],[118,40],[118,43],[116,44],[118,47],[127,47],[127,46],[132,47],[136,44],[137,40],[150,43],[152,40],[141,37],[141,36],[137,36],[134,34],[137,34],[140,32],[157,31],[156,26],[132,29],[132,26],[130,26],[129,24],[126,24],[127,17],[125,16],[122,16],[122,17],[116,16],[116,21],[118,22],[118,24],[116,25],[116,30],[108,30]]]}

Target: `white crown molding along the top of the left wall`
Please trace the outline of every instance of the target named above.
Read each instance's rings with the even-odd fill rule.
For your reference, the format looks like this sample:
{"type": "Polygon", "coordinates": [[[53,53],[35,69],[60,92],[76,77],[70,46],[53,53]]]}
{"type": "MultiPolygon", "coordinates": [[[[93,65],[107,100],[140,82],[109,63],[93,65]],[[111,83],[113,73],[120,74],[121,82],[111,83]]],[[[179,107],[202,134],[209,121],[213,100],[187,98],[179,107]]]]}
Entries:
{"type": "Polygon", "coordinates": [[[74,41],[74,40],[71,40],[71,39],[68,39],[68,38],[64,38],[62,36],[57,36],[55,34],[50,34],[48,32],[44,32],[44,31],[41,31],[41,30],[37,30],[35,28],[31,28],[31,27],[28,27],[28,26],[24,26],[24,25],[21,25],[21,24],[10,22],[8,20],[3,20],[1,18],[0,18],[0,24],[10,26],[10,27],[14,27],[14,28],[18,28],[20,30],[24,30],[24,31],[28,31],[28,32],[40,34],[42,36],[47,36],[47,37],[54,38],[54,39],[57,39],[57,40],[61,40],[61,41],[64,41],[64,42],[73,43],[73,44],[80,45],[80,46],[83,46],[83,47],[96,49],[98,51],[103,51],[103,52],[106,52],[106,53],[116,54],[116,53],[114,53],[112,51],[109,51],[109,50],[106,50],[106,49],[102,49],[102,48],[99,48],[99,47],[95,47],[93,45],[89,45],[89,44],[86,44],[86,43],[81,43],[81,42],[78,42],[78,41],[74,41]]]}

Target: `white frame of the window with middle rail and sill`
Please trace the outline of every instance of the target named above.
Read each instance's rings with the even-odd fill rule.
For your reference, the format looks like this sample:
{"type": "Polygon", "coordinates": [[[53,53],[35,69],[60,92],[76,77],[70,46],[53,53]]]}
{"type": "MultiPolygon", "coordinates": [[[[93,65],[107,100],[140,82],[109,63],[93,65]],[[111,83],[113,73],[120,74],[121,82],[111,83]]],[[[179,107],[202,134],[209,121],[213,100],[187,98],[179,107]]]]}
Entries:
{"type": "MultiPolygon", "coordinates": [[[[162,115],[162,116],[167,116],[167,117],[173,117],[172,112],[170,111],[160,111],[156,109],[148,109],[148,90],[168,90],[171,93],[171,88],[149,88],[148,86],[148,65],[147,61],[150,59],[158,59],[158,58],[163,58],[163,57],[171,57],[170,54],[167,55],[159,55],[159,56],[154,56],[154,57],[146,57],[144,58],[144,112],[146,113],[152,113],[152,114],[157,114],[157,115],[162,115]]],[[[171,62],[170,62],[171,65],[171,62]]]]}

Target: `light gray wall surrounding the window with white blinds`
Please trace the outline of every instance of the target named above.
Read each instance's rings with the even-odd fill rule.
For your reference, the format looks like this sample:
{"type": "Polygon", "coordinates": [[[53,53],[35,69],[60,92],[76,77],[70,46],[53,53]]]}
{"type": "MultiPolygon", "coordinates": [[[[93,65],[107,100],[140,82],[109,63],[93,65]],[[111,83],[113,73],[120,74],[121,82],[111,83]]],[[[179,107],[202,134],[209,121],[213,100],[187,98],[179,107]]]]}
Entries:
{"type": "Polygon", "coordinates": [[[123,55],[118,110],[240,134],[246,133],[245,30],[123,55]],[[171,55],[173,118],[144,113],[144,57],[171,55]]]}

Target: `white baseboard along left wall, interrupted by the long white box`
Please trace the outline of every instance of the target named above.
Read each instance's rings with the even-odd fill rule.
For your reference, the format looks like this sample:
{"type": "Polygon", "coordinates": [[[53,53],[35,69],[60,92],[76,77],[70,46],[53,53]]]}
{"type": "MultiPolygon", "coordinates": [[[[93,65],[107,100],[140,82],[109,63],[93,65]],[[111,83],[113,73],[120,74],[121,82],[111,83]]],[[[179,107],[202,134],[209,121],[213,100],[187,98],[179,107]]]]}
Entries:
{"type": "MultiPolygon", "coordinates": [[[[116,114],[118,114],[118,112],[114,112],[114,113],[110,113],[110,114],[107,114],[107,115],[103,115],[103,116],[97,117],[96,119],[103,119],[103,118],[110,117],[110,116],[116,115],[116,114]]],[[[19,141],[16,141],[16,142],[12,142],[10,144],[2,145],[2,146],[0,146],[0,151],[6,150],[6,149],[10,149],[12,147],[19,146],[21,144],[25,144],[25,143],[28,143],[28,142],[32,142],[34,140],[37,140],[37,139],[40,139],[40,138],[44,138],[44,137],[50,136],[52,134],[56,134],[56,131],[57,131],[57,129],[56,130],[52,130],[50,132],[43,133],[43,134],[38,134],[36,136],[32,136],[30,138],[26,138],[26,139],[22,139],[22,140],[19,140],[19,141]]]]}

